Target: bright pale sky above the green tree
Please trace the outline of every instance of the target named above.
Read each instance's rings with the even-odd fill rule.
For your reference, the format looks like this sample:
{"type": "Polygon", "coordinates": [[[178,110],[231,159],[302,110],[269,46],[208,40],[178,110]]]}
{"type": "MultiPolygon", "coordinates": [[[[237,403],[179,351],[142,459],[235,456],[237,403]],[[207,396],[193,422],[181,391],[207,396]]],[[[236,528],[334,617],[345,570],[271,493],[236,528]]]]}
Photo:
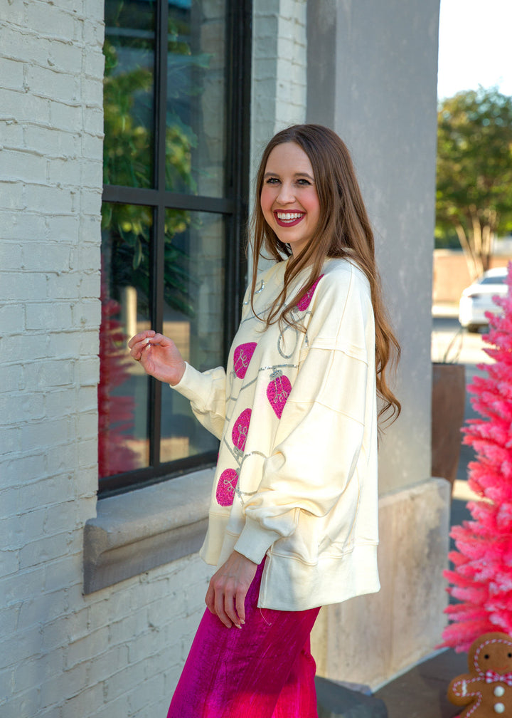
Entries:
{"type": "Polygon", "coordinates": [[[498,85],[512,95],[512,0],[441,0],[437,96],[498,85]]]}

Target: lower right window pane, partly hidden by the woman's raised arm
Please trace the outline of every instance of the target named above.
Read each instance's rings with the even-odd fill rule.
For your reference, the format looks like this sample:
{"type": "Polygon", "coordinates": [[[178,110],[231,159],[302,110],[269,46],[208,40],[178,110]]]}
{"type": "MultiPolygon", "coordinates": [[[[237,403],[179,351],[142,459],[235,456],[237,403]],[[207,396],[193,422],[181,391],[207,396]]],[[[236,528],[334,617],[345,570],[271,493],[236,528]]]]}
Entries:
{"type": "MultiPolygon", "coordinates": [[[[224,230],[222,215],[166,212],[163,334],[201,371],[223,363],[224,230]]],[[[176,391],[163,391],[161,461],[218,447],[192,414],[189,401],[176,391]]]]}

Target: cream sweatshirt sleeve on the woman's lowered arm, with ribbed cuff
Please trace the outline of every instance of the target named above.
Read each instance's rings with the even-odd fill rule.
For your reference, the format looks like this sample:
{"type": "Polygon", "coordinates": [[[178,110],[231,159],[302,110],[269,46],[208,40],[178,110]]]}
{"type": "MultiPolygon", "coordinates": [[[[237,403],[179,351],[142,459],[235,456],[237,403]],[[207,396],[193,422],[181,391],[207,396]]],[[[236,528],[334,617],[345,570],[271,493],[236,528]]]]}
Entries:
{"type": "Polygon", "coordinates": [[[255,563],[295,531],[300,511],[325,516],[341,500],[354,479],[367,424],[375,421],[374,317],[360,276],[351,276],[341,294],[336,285],[328,287],[308,340],[234,547],[255,563]]]}

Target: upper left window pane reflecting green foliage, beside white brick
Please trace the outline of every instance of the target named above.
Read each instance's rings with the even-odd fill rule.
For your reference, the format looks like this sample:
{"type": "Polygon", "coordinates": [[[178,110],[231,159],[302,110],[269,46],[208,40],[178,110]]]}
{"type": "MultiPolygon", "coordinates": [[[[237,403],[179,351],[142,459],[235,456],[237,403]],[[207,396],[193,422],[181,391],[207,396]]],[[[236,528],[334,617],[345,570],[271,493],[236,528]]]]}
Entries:
{"type": "Polygon", "coordinates": [[[155,3],[105,0],[105,185],[153,186],[155,3]]]}

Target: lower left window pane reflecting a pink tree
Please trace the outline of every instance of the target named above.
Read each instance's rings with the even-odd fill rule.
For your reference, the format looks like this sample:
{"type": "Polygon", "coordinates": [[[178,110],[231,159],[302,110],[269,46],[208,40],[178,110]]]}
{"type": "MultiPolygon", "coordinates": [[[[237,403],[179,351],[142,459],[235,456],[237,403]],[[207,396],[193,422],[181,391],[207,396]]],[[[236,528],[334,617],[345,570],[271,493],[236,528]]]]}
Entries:
{"type": "Polygon", "coordinates": [[[147,207],[103,205],[100,327],[100,477],[147,467],[148,391],[143,368],[126,344],[150,328],[148,297],[152,213],[147,207]]]}

